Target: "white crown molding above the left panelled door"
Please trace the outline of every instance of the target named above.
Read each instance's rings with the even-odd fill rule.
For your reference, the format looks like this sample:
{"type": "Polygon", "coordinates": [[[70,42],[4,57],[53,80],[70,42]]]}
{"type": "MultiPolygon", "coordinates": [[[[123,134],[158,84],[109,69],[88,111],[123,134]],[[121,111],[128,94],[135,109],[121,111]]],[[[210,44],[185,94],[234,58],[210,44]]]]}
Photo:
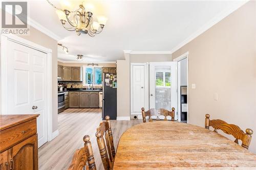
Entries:
{"type": "MultiPolygon", "coordinates": [[[[2,9],[2,7],[1,7],[2,9]]],[[[3,10],[3,9],[2,9],[3,10]]],[[[12,9],[11,8],[6,8],[5,9],[6,12],[8,12],[9,14],[12,15],[12,9]]],[[[19,10],[17,10],[17,12],[20,12],[19,10]]],[[[48,30],[47,28],[45,28],[44,26],[40,25],[38,22],[36,22],[35,20],[33,20],[32,18],[30,18],[29,16],[27,16],[28,19],[28,25],[32,26],[33,28],[35,28],[36,30],[46,34],[47,36],[53,38],[56,41],[61,40],[62,38],[60,38],[59,36],[57,36],[56,34],[54,34],[52,31],[48,30]]]]}

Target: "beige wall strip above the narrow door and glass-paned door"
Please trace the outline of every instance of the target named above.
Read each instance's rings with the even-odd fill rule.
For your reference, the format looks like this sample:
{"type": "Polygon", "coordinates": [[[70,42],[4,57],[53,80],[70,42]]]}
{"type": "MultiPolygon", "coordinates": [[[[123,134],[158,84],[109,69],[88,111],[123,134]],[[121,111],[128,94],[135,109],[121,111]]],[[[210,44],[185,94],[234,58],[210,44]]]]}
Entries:
{"type": "Polygon", "coordinates": [[[131,63],[157,62],[157,61],[172,61],[171,54],[131,54],[131,63]]]}

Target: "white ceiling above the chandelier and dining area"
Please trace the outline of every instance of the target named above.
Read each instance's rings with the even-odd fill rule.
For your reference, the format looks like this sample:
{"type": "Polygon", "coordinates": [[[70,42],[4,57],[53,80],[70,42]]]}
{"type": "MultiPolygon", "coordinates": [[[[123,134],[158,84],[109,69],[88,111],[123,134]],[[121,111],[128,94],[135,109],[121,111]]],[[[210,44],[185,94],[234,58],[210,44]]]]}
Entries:
{"type": "MultiPolygon", "coordinates": [[[[60,7],[57,1],[51,2],[60,7]]],[[[30,17],[68,46],[69,55],[59,48],[59,59],[76,61],[75,56],[82,54],[86,61],[104,62],[124,59],[123,50],[172,51],[212,20],[241,4],[241,1],[102,1],[101,13],[108,21],[95,37],[77,36],[62,28],[55,9],[47,1],[31,1],[30,17]]]]}

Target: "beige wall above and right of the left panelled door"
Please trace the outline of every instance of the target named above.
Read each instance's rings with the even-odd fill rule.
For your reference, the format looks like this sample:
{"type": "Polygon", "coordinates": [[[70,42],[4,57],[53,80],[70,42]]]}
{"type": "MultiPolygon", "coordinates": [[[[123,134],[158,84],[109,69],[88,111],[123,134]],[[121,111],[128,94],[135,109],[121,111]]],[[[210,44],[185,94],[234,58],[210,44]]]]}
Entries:
{"type": "Polygon", "coordinates": [[[52,131],[58,129],[57,41],[30,26],[30,36],[21,36],[52,50],[52,131]]]}

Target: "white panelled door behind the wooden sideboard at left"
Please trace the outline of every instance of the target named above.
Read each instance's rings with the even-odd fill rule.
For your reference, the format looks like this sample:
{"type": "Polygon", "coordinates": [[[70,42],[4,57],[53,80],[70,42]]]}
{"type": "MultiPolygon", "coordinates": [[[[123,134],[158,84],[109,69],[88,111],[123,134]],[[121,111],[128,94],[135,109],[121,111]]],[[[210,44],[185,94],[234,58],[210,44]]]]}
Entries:
{"type": "Polygon", "coordinates": [[[3,114],[40,114],[37,118],[40,147],[47,142],[47,55],[10,40],[8,48],[8,99],[3,114]]]}

